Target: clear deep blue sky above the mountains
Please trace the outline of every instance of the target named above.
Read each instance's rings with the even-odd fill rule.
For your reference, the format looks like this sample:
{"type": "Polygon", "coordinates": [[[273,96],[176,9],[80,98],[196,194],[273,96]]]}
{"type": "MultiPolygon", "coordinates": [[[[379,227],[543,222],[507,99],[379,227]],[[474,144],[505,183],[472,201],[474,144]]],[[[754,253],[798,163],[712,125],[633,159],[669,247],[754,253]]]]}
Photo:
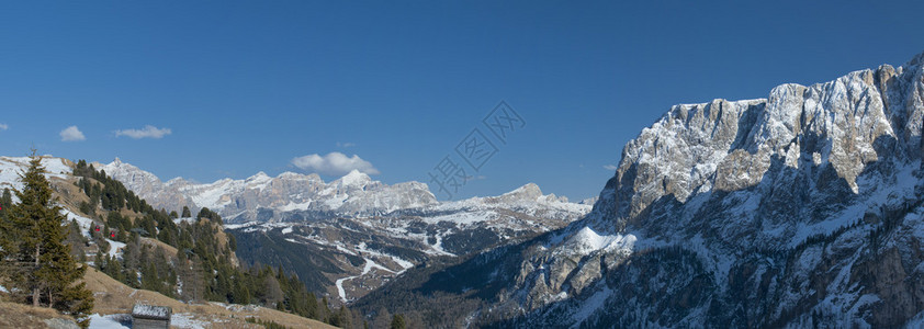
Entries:
{"type": "Polygon", "coordinates": [[[0,155],[211,182],[339,151],[427,181],[504,100],[527,126],[459,197],[536,182],[583,198],[672,104],[924,52],[921,1],[636,2],[7,1],[0,155]],[[147,125],[170,134],[116,134],[147,125]]]}

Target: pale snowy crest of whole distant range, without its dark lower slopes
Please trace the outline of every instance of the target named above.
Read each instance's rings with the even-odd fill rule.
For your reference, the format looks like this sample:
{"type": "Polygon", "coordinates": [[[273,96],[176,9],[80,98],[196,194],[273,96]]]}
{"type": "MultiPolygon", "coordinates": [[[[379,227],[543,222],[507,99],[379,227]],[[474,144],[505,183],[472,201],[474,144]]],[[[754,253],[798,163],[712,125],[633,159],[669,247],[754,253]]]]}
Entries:
{"type": "Polygon", "coordinates": [[[273,178],[259,172],[245,180],[223,179],[198,184],[182,178],[165,183],[155,174],[119,158],[108,164],[93,164],[155,207],[168,211],[183,206],[192,209],[207,207],[222,215],[226,223],[236,224],[484,207],[520,208],[530,213],[546,212],[554,213],[554,216],[574,217],[586,214],[591,206],[568,203],[566,197],[554,194],[542,195],[539,188],[531,183],[502,196],[438,202],[426,183],[412,181],[387,185],[356,170],[329,183],[315,173],[283,172],[273,178]]]}

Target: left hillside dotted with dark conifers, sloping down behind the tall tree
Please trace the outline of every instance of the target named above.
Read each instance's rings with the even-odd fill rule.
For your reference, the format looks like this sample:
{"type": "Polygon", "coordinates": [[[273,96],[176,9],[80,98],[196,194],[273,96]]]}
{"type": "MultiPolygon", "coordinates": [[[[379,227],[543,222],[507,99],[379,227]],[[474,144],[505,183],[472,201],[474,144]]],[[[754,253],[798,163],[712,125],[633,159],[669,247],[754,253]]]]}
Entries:
{"type": "MultiPolygon", "coordinates": [[[[83,160],[74,164],[72,177],[67,183],[58,181],[53,184],[41,174],[44,168],[40,160],[40,157],[33,157],[35,168],[32,169],[36,174],[26,174],[25,178],[41,177],[43,181],[25,182],[25,192],[4,189],[0,196],[2,250],[18,250],[8,246],[23,245],[29,237],[48,237],[59,240],[60,252],[68,254],[80,269],[69,271],[76,273],[75,277],[82,276],[86,269],[82,264],[87,264],[131,287],[158,292],[184,302],[255,304],[340,327],[358,321],[345,307],[331,310],[326,298],[318,299],[297,276],[281,268],[239,265],[234,252],[236,239],[225,234],[221,216],[209,208],[200,209],[195,216],[190,216],[188,208],[182,209],[182,216],[176,211],[155,209],[121,182],[83,160]],[[31,188],[33,185],[47,189],[46,200],[40,201],[47,209],[40,215],[48,219],[36,227],[50,229],[57,223],[60,229],[55,236],[47,232],[14,234],[24,229],[26,220],[22,218],[27,213],[23,209],[30,207],[24,201],[30,200],[27,195],[35,189],[31,188]],[[67,217],[61,213],[67,212],[84,217],[83,222],[75,219],[66,223],[67,217]]],[[[35,208],[33,213],[38,212],[36,206],[31,207],[35,208]]],[[[20,287],[31,282],[32,285],[37,284],[36,288],[47,290],[42,286],[44,281],[35,280],[35,275],[25,277],[16,274],[16,266],[22,268],[21,258],[0,254],[4,269],[0,273],[0,285],[20,287]]],[[[26,290],[11,291],[13,293],[9,293],[8,298],[33,303],[32,295],[25,294],[26,290]]],[[[42,297],[40,302],[59,304],[54,300],[55,295],[50,296],[42,297]]],[[[77,315],[66,307],[57,308],[77,315]]],[[[83,309],[80,314],[86,315],[88,310],[83,309]]]]}

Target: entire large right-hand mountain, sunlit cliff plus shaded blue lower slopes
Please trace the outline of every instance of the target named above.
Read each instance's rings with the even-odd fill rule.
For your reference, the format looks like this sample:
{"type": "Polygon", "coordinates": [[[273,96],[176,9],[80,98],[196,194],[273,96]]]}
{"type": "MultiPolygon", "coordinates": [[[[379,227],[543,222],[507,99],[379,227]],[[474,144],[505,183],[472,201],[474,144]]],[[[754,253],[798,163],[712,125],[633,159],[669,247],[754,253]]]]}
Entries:
{"type": "Polygon", "coordinates": [[[500,327],[917,324],[922,61],[673,106],[587,217],[424,285],[491,268],[467,322],[500,327]]]}

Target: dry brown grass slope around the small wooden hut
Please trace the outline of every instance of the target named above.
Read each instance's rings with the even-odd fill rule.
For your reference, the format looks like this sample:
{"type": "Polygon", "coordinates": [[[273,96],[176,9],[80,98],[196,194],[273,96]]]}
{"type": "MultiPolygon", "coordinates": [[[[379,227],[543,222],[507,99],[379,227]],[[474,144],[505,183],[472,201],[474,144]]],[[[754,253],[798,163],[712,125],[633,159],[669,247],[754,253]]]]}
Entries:
{"type": "Polygon", "coordinates": [[[93,313],[101,315],[131,313],[132,306],[144,303],[169,306],[173,308],[173,314],[189,314],[193,320],[211,324],[214,328],[261,328],[247,324],[245,319],[248,317],[291,328],[335,328],[316,320],[264,307],[223,306],[212,303],[188,305],[156,292],[134,290],[94,269],[88,269],[83,280],[87,282],[87,287],[94,292],[97,302],[93,313]]]}

